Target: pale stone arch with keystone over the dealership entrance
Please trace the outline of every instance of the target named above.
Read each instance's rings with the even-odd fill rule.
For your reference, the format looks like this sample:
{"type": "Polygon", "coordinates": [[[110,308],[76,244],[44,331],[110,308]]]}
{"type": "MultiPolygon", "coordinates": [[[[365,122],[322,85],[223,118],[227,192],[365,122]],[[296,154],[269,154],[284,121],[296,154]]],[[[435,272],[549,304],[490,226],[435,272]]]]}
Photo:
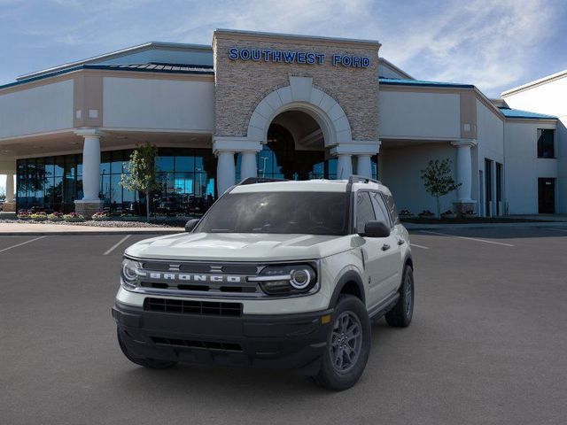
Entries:
{"type": "Polygon", "coordinates": [[[313,87],[310,77],[290,77],[289,86],[276,89],[264,97],[248,121],[247,138],[266,143],[272,120],[286,111],[309,114],[319,124],[325,146],[353,141],[351,126],[343,108],[321,89],[313,87]]]}

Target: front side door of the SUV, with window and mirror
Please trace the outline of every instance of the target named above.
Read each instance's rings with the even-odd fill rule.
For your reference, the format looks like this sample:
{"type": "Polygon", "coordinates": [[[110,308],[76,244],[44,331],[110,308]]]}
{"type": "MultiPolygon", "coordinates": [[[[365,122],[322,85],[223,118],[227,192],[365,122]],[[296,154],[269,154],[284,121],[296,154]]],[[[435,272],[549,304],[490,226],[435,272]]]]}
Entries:
{"type": "MultiPolygon", "coordinates": [[[[377,214],[373,201],[370,198],[368,190],[359,190],[356,192],[355,198],[355,228],[356,233],[361,235],[364,233],[364,226],[370,220],[377,220],[377,214]]],[[[378,220],[384,220],[378,219],[378,220]]],[[[390,226],[390,221],[384,221],[390,226]]],[[[397,248],[394,236],[388,237],[366,237],[359,236],[363,239],[361,243],[361,255],[364,259],[365,279],[369,285],[369,293],[367,300],[369,307],[377,305],[391,291],[388,284],[392,280],[392,269],[390,265],[392,261],[396,264],[399,260],[394,259],[393,251],[397,248]]]]}

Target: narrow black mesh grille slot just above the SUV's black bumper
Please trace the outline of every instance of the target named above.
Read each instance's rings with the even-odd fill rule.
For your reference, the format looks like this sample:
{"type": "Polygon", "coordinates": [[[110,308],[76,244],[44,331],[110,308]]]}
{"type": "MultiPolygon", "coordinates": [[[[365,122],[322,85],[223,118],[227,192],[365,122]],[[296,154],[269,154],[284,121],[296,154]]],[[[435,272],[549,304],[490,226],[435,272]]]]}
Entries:
{"type": "Polygon", "coordinates": [[[242,303],[190,301],[184,299],[145,298],[148,312],[198,314],[210,316],[242,316],[242,303]]]}

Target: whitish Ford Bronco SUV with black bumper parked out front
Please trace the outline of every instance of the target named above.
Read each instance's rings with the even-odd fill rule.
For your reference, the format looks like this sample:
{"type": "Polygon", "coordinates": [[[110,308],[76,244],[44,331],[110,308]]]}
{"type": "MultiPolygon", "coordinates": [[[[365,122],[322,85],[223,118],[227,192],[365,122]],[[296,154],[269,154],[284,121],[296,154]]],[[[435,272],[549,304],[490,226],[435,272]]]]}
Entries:
{"type": "Polygon", "coordinates": [[[411,321],[408,231],[380,182],[246,179],[186,230],[125,252],[113,317],[138,365],[293,368],[344,390],[370,322],[411,321]]]}

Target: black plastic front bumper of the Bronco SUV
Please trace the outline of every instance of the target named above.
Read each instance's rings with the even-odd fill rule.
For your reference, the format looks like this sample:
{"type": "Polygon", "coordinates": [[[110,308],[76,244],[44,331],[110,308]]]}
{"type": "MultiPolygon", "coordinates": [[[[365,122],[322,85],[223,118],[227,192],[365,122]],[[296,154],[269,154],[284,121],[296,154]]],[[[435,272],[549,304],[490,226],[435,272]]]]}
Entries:
{"type": "Polygon", "coordinates": [[[113,318],[138,359],[229,367],[293,368],[313,375],[325,352],[332,310],[213,316],[145,311],[116,303],[113,318]]]}

